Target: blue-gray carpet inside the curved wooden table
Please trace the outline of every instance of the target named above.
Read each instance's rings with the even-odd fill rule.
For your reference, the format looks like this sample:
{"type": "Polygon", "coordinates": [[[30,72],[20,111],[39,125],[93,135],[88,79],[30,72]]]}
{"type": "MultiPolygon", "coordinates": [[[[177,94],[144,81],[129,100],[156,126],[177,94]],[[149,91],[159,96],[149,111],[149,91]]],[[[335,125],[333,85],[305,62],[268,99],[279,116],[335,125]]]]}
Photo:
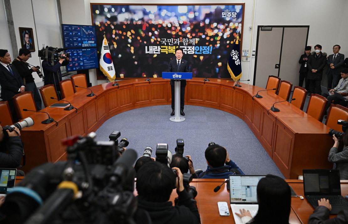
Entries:
{"type": "Polygon", "coordinates": [[[97,131],[97,140],[109,140],[113,131],[121,131],[129,145],[142,156],[144,148],[152,147],[155,157],[157,143],[167,143],[174,154],[176,139],[183,138],[184,155],[192,157],[195,169],[206,169],[204,157],[208,143],[226,147],[229,157],[245,174],[284,176],[274,164],[247,124],[237,116],[201,106],[185,105],[183,122],[169,121],[169,105],[150,106],[126,111],[107,120],[97,131]]]}

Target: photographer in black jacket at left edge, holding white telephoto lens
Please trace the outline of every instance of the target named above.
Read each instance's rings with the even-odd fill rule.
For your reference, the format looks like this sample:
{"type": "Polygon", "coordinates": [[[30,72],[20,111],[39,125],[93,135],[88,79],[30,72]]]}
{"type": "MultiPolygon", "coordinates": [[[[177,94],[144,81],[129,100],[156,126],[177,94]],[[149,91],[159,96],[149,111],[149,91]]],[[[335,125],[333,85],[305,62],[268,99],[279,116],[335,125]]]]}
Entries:
{"type": "Polygon", "coordinates": [[[18,128],[10,132],[6,130],[8,137],[5,137],[0,125],[0,167],[16,168],[21,165],[23,144],[21,132],[18,128]]]}

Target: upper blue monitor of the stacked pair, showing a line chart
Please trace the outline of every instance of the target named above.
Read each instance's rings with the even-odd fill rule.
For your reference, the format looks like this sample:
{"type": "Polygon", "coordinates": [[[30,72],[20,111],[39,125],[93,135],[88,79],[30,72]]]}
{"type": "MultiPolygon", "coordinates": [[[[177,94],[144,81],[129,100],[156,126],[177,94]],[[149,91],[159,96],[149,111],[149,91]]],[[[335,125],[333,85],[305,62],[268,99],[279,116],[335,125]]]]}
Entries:
{"type": "Polygon", "coordinates": [[[64,48],[96,48],[95,26],[62,24],[64,48]]]}

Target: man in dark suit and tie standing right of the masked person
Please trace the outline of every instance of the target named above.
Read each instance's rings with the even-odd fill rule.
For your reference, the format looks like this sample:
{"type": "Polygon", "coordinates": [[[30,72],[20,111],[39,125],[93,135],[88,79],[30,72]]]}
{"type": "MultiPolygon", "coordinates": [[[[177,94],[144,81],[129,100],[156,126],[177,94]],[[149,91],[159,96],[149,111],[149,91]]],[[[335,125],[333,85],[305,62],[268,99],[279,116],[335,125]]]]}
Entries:
{"type": "Polygon", "coordinates": [[[327,88],[332,88],[332,86],[337,86],[339,80],[341,79],[342,65],[345,60],[345,55],[340,54],[339,51],[341,46],[336,44],[333,46],[333,54],[329,55],[326,64],[329,66],[326,71],[327,75],[327,88]]]}

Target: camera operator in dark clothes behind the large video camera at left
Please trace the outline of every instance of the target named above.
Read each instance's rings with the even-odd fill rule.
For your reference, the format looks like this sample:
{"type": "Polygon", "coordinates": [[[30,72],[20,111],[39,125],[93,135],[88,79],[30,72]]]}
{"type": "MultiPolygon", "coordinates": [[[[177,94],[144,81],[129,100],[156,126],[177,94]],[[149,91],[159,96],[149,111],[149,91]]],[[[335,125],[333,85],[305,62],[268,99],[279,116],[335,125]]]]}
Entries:
{"type": "Polygon", "coordinates": [[[59,86],[60,81],[62,81],[61,66],[66,66],[67,64],[69,64],[69,58],[66,58],[65,54],[62,54],[62,57],[64,58],[59,57],[59,61],[54,66],[52,66],[52,63],[49,61],[45,61],[45,60],[42,61],[42,69],[44,70],[44,76],[45,76],[44,85],[48,85],[48,84],[55,85],[58,98],[61,98],[61,95],[60,95],[61,89],[59,86]]]}

